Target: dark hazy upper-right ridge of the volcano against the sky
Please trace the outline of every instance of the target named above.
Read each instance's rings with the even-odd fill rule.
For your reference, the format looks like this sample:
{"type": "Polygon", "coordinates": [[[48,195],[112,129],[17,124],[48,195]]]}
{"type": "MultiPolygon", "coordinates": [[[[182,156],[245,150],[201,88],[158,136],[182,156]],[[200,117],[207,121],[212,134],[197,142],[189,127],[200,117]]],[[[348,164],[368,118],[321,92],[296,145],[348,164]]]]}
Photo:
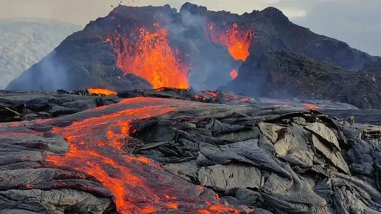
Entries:
{"type": "Polygon", "coordinates": [[[209,11],[206,7],[185,3],[182,7],[182,11],[184,10],[190,11],[193,15],[208,17],[208,20],[217,26],[233,21],[239,26],[253,28],[255,37],[250,46],[250,55],[245,61],[249,64],[264,52],[284,49],[353,70],[362,69],[365,64],[380,58],[351,48],[345,42],[296,25],[275,7],[237,15],[225,11],[209,11]]]}

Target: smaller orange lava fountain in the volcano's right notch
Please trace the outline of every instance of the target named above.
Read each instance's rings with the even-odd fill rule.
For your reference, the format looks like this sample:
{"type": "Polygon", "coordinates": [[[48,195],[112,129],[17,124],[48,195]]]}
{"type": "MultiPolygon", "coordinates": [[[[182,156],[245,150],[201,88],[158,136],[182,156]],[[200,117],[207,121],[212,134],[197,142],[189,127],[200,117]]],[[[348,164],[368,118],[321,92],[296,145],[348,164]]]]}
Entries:
{"type": "Polygon", "coordinates": [[[241,30],[237,23],[234,23],[232,28],[225,33],[216,32],[215,28],[214,24],[209,24],[212,41],[225,45],[236,60],[245,61],[250,54],[249,47],[253,39],[253,32],[251,30],[241,30]]]}

